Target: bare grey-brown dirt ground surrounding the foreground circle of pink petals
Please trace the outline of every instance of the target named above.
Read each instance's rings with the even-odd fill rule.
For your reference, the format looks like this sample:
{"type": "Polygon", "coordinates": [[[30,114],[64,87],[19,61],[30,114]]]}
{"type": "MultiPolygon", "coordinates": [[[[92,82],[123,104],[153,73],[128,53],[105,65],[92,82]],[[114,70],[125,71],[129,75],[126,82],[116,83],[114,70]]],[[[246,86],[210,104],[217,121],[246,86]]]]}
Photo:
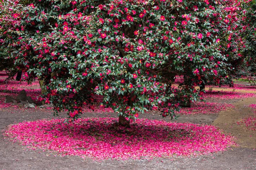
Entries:
{"type": "MultiPolygon", "coordinates": [[[[237,90],[236,90],[237,91],[237,90]]],[[[250,92],[251,93],[251,92],[250,92]]],[[[227,101],[221,101],[227,102],[227,101]]],[[[56,156],[55,153],[43,150],[31,150],[18,143],[12,143],[2,135],[10,124],[23,121],[35,121],[42,118],[52,118],[51,110],[15,110],[12,107],[0,109],[0,169],[256,169],[256,132],[237,125],[241,118],[254,115],[249,104],[256,104],[256,98],[243,100],[229,100],[235,108],[229,108],[218,114],[181,115],[177,122],[191,122],[197,124],[212,124],[223,129],[227,134],[237,138],[239,147],[210,155],[198,157],[154,158],[152,160],[105,160],[96,161],[90,158],[82,159],[78,156],[56,156]]],[[[84,117],[105,117],[109,114],[84,114],[84,117]]],[[[65,117],[65,114],[60,115],[65,117]]],[[[140,118],[162,120],[159,113],[151,112],[140,115],[140,118]]],[[[168,118],[166,121],[170,121],[168,118]]],[[[172,120],[173,121],[173,120],[172,120]]]]}

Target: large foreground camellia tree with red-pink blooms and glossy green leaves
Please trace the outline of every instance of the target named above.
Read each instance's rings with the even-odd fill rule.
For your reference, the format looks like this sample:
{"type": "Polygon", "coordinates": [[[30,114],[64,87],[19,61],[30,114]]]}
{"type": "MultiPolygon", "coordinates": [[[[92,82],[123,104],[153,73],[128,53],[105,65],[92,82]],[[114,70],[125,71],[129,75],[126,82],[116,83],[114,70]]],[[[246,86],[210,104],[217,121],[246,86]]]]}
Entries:
{"type": "Polygon", "coordinates": [[[1,5],[1,48],[69,118],[85,104],[93,109],[95,95],[123,125],[149,109],[173,118],[180,104],[199,99],[196,86],[227,78],[234,3],[10,0],[1,5]],[[184,76],[179,87],[175,75],[184,76]]]}

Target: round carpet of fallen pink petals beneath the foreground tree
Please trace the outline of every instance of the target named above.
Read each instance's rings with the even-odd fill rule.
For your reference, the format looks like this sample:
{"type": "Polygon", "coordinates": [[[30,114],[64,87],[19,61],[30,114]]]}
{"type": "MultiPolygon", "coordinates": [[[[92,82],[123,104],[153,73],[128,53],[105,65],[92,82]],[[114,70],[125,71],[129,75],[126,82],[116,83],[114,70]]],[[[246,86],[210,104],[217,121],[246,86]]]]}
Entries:
{"type": "Polygon", "coordinates": [[[29,148],[96,159],[140,159],[196,156],[235,145],[233,137],[216,127],[137,119],[131,128],[116,127],[116,118],[82,118],[22,122],[5,135],[29,148]]]}

